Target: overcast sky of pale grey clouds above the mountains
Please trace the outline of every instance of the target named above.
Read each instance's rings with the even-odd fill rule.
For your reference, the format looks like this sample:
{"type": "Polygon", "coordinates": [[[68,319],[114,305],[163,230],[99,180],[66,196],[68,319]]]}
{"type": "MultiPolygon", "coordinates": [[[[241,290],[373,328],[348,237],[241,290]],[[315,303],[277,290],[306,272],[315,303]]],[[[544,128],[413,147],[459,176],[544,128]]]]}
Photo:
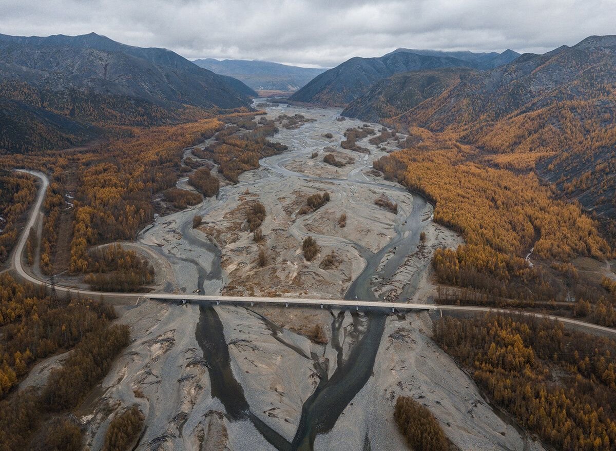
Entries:
{"type": "Polygon", "coordinates": [[[333,67],[396,47],[549,51],[616,34],[616,0],[0,0],[0,33],[82,35],[195,59],[333,67]]]}

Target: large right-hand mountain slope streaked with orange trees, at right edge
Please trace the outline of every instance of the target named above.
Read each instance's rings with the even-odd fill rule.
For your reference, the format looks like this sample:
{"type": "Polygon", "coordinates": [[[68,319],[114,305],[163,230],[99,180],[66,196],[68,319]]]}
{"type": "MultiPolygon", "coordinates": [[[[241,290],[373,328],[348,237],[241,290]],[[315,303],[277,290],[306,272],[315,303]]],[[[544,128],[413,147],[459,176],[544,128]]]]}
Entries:
{"type": "Polygon", "coordinates": [[[616,216],[616,36],[524,54],[399,120],[452,132],[496,165],[528,169],[538,161],[537,171],[562,193],[599,217],[616,216]]]}

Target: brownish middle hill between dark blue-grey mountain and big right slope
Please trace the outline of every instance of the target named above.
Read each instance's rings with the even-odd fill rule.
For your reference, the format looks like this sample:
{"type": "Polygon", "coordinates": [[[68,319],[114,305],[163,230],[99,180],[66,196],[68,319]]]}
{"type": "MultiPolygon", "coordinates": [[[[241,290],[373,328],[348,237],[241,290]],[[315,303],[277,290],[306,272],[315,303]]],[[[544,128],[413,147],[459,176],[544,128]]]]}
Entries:
{"type": "Polygon", "coordinates": [[[355,99],[342,116],[379,122],[397,118],[426,99],[440,95],[475,71],[466,67],[403,72],[377,81],[370,91],[355,99]]]}

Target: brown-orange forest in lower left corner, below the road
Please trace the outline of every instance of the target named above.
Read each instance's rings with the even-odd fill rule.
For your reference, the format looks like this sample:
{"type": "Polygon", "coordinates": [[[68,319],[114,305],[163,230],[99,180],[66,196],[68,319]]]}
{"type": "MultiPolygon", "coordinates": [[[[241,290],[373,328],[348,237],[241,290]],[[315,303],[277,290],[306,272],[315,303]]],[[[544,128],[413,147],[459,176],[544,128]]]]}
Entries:
{"type": "Polygon", "coordinates": [[[77,407],[129,343],[129,328],[111,325],[115,317],[100,301],[54,299],[0,275],[1,451],[83,449],[82,430],[62,413],[77,407]],[[33,365],[68,351],[40,390],[17,389],[33,365]]]}

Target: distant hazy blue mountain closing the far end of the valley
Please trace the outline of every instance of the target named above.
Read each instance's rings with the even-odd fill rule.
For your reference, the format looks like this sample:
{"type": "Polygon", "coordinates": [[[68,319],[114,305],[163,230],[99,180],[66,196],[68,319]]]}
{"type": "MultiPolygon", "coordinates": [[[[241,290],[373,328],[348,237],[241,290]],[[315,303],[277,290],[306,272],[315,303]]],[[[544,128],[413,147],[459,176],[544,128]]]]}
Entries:
{"type": "Polygon", "coordinates": [[[259,91],[297,91],[326,70],[256,60],[219,61],[208,58],[195,60],[193,63],[217,74],[237,78],[259,91]]]}

